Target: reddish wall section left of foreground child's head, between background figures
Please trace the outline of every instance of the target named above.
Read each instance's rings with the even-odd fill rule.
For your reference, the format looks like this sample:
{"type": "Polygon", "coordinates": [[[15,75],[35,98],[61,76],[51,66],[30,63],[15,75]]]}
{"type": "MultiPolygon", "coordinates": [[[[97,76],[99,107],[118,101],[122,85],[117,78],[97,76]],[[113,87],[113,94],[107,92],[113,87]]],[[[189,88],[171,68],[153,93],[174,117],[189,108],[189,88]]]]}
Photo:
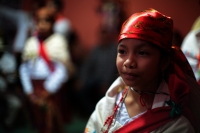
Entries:
{"type": "Polygon", "coordinates": [[[64,0],[64,14],[78,32],[81,42],[90,50],[97,40],[100,17],[97,15],[99,0],[64,0]]]}

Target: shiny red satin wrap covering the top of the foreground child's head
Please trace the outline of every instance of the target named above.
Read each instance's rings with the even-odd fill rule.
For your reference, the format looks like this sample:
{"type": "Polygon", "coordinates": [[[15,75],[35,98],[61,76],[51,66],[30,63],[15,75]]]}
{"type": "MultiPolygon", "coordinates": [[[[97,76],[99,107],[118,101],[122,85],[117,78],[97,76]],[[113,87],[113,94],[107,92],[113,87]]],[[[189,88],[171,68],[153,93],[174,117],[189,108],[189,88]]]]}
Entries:
{"type": "Polygon", "coordinates": [[[125,38],[142,39],[169,51],[172,36],[173,20],[151,8],[135,13],[125,21],[118,41],[125,38]]]}

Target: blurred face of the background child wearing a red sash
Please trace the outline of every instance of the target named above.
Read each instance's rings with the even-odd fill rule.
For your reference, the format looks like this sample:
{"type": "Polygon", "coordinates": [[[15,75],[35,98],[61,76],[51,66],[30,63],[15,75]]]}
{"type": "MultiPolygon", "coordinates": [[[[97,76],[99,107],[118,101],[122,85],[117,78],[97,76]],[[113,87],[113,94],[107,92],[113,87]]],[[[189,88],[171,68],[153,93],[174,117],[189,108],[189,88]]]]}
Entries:
{"type": "Polygon", "coordinates": [[[36,13],[36,28],[40,36],[52,34],[53,17],[49,15],[46,8],[41,8],[36,13]]]}

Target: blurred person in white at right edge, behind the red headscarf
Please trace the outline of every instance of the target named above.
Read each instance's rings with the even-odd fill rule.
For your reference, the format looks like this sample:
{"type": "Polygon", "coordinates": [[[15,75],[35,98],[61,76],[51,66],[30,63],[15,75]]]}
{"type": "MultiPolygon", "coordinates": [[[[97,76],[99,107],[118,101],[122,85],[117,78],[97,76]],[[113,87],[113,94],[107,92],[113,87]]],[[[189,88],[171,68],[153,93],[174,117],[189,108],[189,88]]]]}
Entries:
{"type": "Polygon", "coordinates": [[[191,27],[191,30],[183,40],[181,49],[200,84],[200,17],[195,20],[191,27]]]}

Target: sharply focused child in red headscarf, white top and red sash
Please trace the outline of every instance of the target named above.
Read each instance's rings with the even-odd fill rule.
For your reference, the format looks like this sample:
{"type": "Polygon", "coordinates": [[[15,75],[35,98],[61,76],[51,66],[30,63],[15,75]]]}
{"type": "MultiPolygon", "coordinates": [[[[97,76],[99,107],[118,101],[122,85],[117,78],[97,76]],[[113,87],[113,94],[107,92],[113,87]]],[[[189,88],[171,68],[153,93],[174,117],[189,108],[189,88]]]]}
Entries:
{"type": "Polygon", "coordinates": [[[171,17],[152,8],[123,23],[120,76],[97,103],[85,133],[200,132],[200,86],[172,36],[171,17]]]}

